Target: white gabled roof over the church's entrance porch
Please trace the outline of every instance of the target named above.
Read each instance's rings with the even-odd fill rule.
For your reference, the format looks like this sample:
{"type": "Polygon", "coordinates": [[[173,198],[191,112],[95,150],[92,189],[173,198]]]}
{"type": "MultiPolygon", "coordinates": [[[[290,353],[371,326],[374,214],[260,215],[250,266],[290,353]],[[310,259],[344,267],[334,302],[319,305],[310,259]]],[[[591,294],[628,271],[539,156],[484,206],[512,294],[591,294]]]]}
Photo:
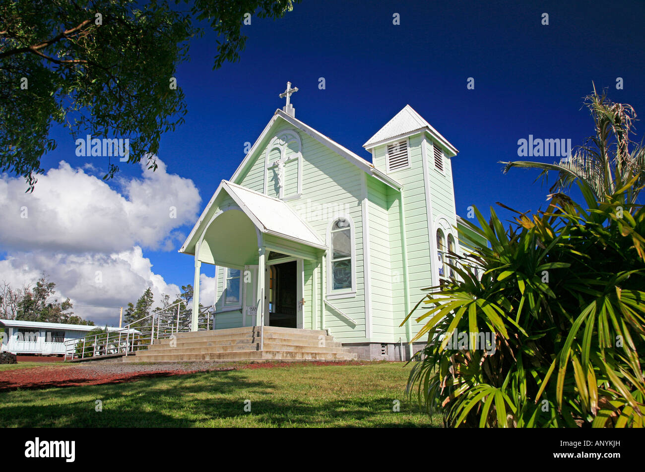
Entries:
{"type": "Polygon", "coordinates": [[[255,192],[233,182],[222,181],[215,190],[212,199],[208,202],[202,212],[199,220],[193,227],[192,231],[181,246],[179,252],[194,254],[197,239],[201,236],[206,224],[206,215],[213,206],[217,196],[224,190],[228,193],[233,201],[249,217],[255,226],[262,232],[299,242],[312,246],[314,248],[326,250],[323,241],[318,237],[315,231],[301,219],[301,217],[289,206],[288,203],[264,195],[264,193],[255,192]],[[198,232],[198,230],[201,231],[198,232]]]}

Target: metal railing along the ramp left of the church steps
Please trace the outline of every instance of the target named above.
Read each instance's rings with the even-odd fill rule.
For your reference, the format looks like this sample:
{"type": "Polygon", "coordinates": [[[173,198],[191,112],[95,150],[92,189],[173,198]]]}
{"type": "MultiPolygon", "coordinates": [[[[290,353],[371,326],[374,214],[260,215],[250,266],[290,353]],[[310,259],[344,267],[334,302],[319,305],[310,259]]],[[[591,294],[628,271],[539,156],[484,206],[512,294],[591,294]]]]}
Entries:
{"type": "MultiPolygon", "coordinates": [[[[65,341],[65,360],[88,359],[104,355],[132,355],[148,349],[157,339],[166,339],[176,333],[190,331],[192,310],[177,302],[150,315],[126,324],[121,329],[88,335],[65,341]]],[[[213,328],[215,309],[207,306],[199,310],[197,329],[213,328]]]]}

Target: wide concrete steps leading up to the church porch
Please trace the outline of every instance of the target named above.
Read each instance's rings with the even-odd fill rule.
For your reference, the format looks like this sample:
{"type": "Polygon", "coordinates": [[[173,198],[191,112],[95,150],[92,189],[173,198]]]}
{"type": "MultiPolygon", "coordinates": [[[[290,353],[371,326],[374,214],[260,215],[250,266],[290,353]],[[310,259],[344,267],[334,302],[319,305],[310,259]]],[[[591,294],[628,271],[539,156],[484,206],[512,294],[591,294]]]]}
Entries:
{"type": "Polygon", "coordinates": [[[148,349],[124,357],[123,362],[355,359],[355,353],[343,348],[326,331],[273,326],[264,326],[262,330],[259,326],[253,326],[177,333],[174,340],[157,340],[148,349]]]}

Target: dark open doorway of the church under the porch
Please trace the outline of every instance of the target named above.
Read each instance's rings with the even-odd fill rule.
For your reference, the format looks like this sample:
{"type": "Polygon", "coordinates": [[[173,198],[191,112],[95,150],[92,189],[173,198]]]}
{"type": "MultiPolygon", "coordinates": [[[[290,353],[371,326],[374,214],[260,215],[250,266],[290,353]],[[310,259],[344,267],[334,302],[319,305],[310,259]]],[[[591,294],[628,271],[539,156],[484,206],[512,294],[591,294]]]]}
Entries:
{"type": "Polygon", "coordinates": [[[269,267],[269,326],[297,327],[295,261],[269,267]]]}

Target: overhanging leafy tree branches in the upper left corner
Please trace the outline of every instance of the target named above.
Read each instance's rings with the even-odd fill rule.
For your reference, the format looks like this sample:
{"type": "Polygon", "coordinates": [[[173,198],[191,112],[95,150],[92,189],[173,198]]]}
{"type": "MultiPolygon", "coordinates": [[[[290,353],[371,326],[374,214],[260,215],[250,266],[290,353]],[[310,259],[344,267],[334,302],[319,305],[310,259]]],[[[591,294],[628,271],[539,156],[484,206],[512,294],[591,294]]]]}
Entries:
{"type": "MultiPolygon", "coordinates": [[[[128,162],[157,165],[161,133],[184,123],[175,81],[205,22],[219,40],[213,68],[239,60],[244,15],[279,18],[299,0],[14,0],[0,3],[0,172],[33,191],[54,123],[74,139],[129,139],[128,162]],[[181,7],[188,4],[188,11],[181,7]]],[[[110,160],[104,179],[118,166],[110,160]]]]}

